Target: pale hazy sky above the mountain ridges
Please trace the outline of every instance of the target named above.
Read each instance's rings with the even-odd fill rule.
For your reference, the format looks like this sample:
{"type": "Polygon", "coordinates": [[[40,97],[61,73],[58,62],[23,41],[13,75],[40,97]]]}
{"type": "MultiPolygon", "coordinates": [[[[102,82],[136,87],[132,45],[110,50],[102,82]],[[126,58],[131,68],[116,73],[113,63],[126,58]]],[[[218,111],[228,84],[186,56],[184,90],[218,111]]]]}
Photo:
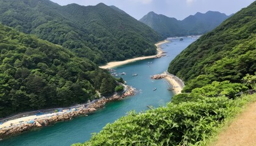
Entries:
{"type": "Polygon", "coordinates": [[[115,5],[136,19],[142,18],[148,12],[154,11],[177,19],[184,19],[196,12],[205,13],[208,10],[219,11],[230,15],[238,12],[254,0],[51,0],[60,5],[76,3],[79,5],[96,5],[103,2],[115,5]]]}

